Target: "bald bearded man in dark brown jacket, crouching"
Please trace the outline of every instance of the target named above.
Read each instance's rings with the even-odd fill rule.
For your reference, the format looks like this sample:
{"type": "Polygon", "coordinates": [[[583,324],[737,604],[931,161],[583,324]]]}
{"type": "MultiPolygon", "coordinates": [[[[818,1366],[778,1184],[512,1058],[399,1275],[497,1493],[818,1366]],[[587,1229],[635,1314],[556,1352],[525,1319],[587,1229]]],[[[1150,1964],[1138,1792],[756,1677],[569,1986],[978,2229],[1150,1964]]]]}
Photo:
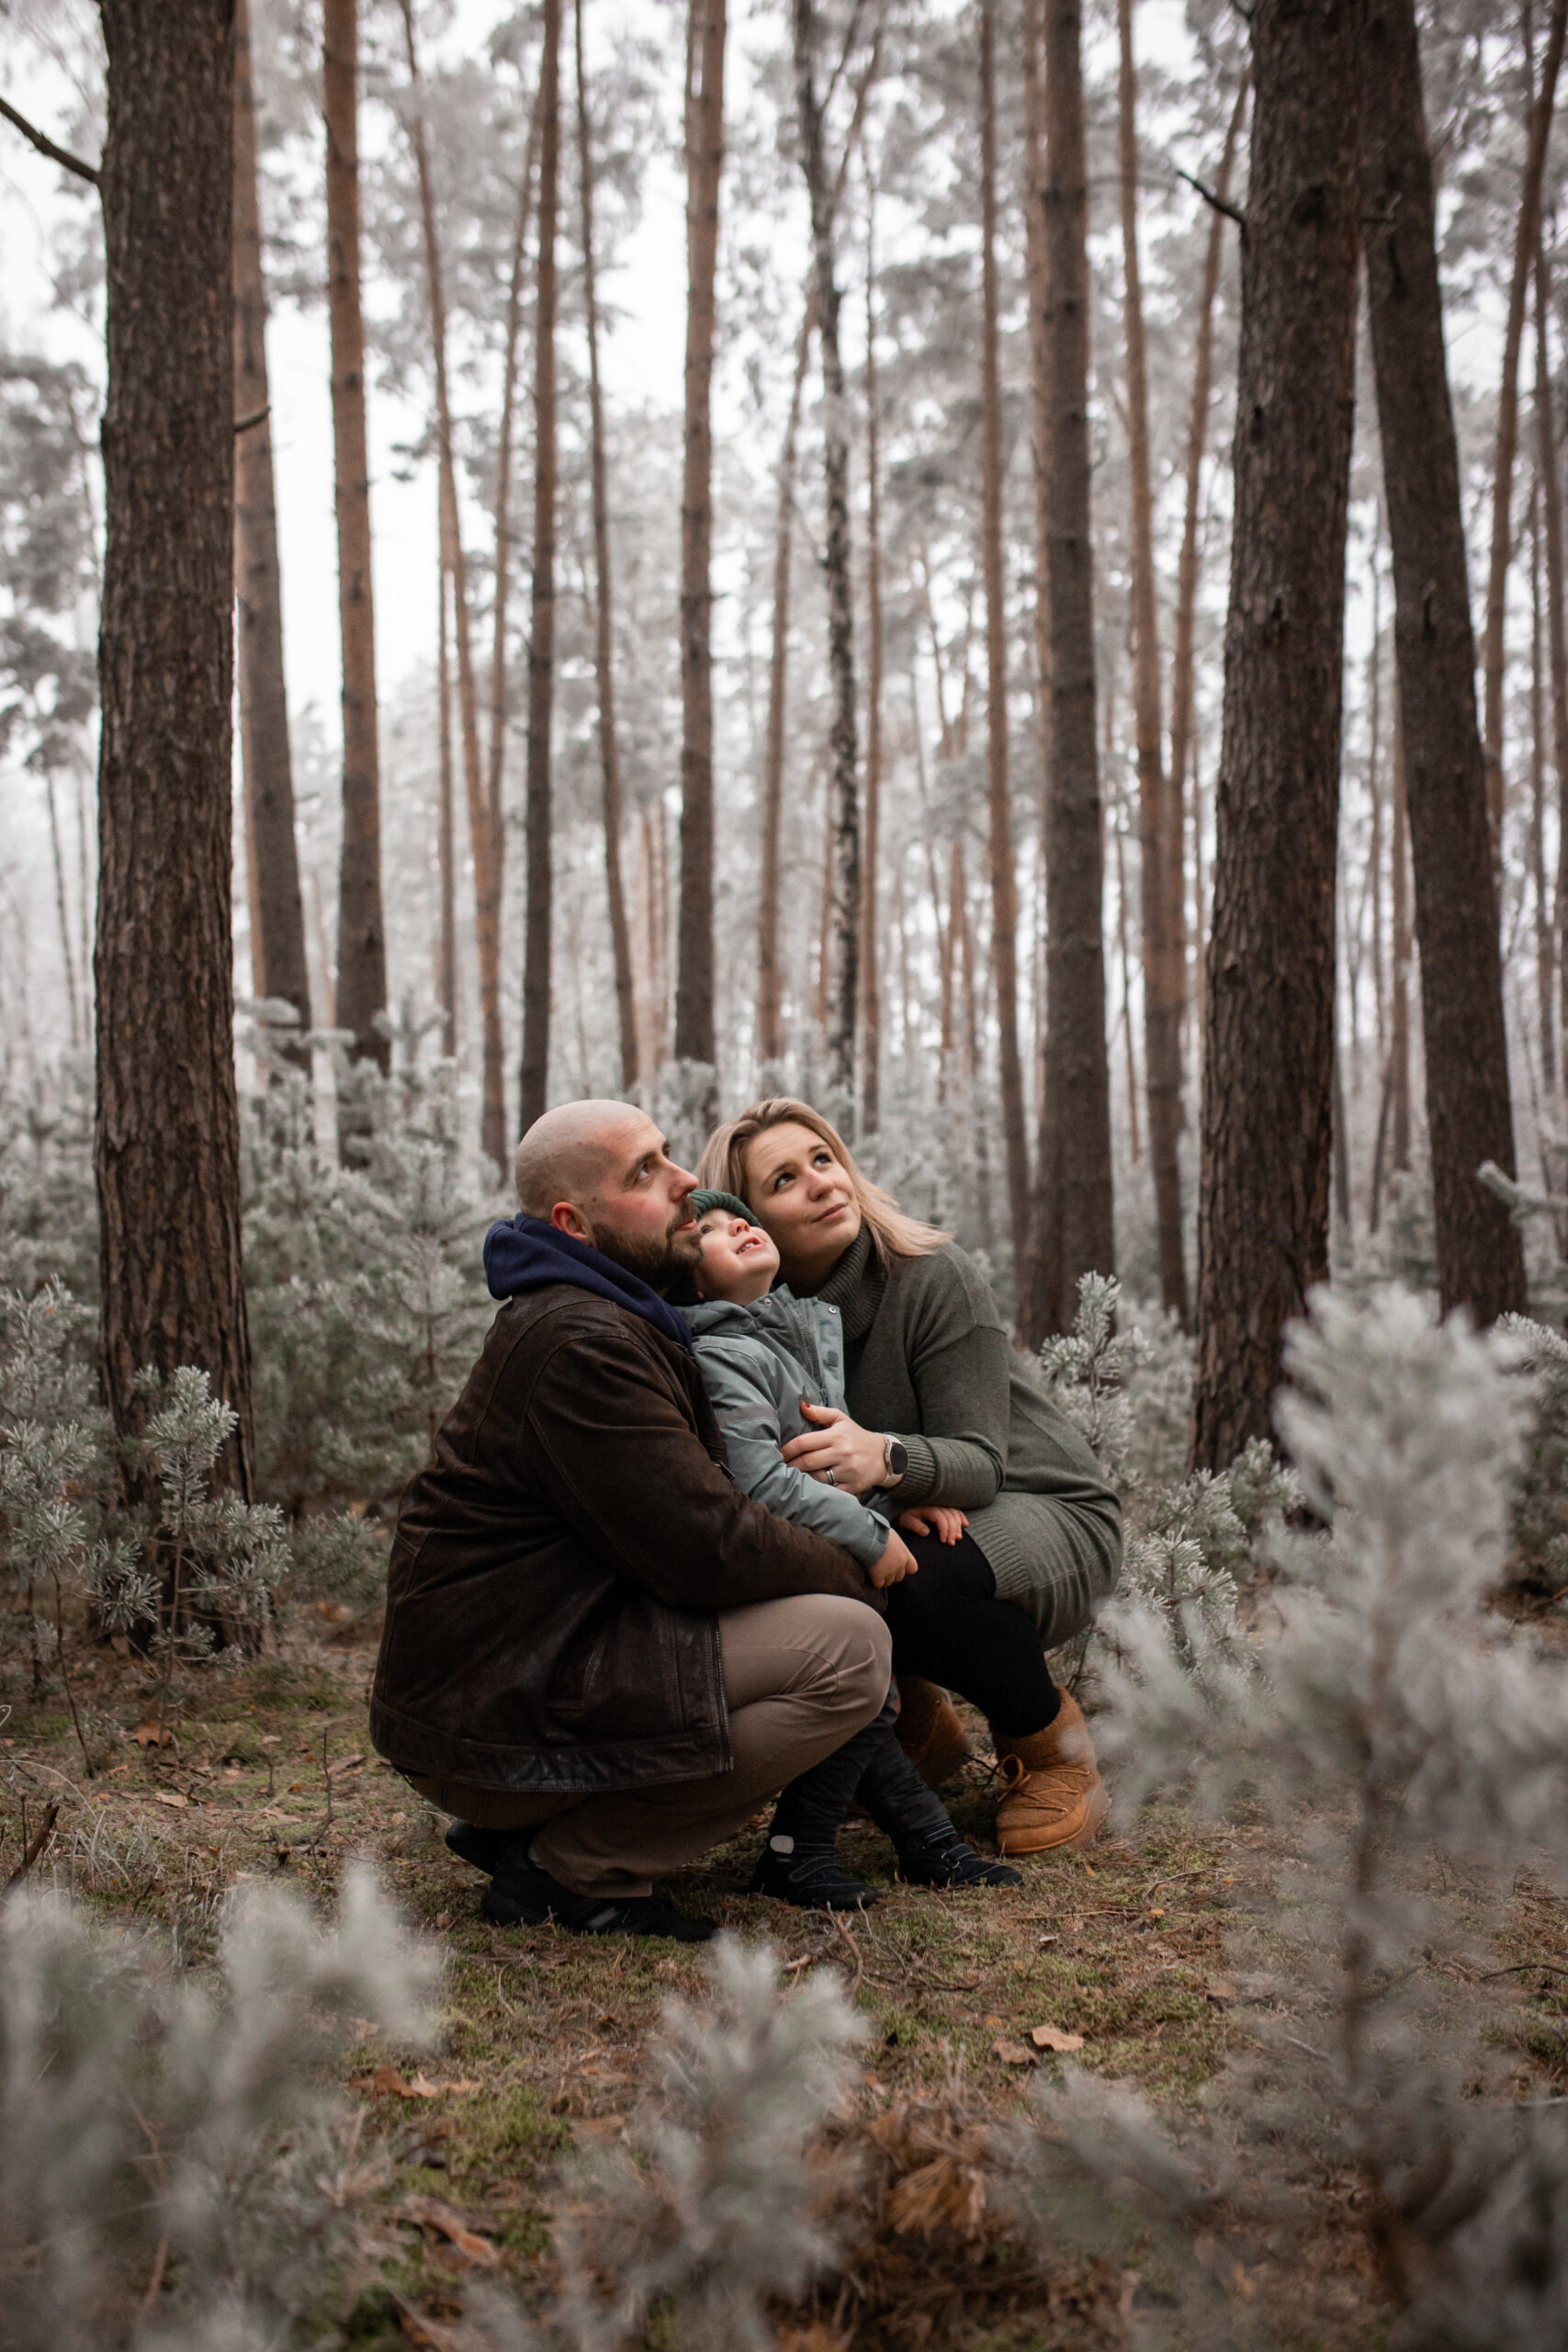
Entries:
{"type": "Polygon", "coordinates": [[[564,1103],[515,1176],[501,1312],[397,1517],[371,1736],[456,1816],[489,1919],[703,1943],[654,1879],[882,1710],[875,1571],[724,1468],[663,1296],[696,1176],[654,1122],[564,1103]]]}

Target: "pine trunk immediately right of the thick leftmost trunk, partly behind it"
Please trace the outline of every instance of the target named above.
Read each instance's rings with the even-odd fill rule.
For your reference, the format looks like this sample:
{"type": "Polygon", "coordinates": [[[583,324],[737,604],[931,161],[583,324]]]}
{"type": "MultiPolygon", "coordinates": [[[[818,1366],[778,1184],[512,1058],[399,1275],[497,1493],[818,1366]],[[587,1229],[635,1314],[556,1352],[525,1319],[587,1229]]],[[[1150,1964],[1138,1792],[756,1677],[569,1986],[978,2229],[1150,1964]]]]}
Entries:
{"type": "MultiPolygon", "coordinates": [[[[247,419],[244,430],[235,435],[235,656],[254,903],[252,971],[256,995],[292,1004],[303,1035],[310,1028],[310,969],[294,842],[289,696],[282,675],[249,0],[237,0],[235,7],[235,416],[247,419]]],[[[306,1044],[289,1044],[287,1035],[277,1042],[301,1068],[310,1068],[306,1044]]]]}

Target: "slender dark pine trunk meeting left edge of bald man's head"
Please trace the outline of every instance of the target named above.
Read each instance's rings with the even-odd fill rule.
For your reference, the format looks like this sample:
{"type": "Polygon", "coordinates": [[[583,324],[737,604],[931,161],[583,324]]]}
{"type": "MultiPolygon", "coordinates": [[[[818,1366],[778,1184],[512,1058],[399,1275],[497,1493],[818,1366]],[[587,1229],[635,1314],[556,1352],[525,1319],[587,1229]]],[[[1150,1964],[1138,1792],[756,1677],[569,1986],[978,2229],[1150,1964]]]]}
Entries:
{"type": "Polygon", "coordinates": [[[534,303],[534,600],[529,616],[529,767],[524,837],[529,877],[522,943],[522,1084],[520,1131],[527,1136],[550,1101],[550,929],[552,929],[552,795],[550,720],[555,710],[555,219],[562,148],[562,0],[545,0],[545,45],[538,68],[543,118],[538,143],[538,296],[534,303]]]}

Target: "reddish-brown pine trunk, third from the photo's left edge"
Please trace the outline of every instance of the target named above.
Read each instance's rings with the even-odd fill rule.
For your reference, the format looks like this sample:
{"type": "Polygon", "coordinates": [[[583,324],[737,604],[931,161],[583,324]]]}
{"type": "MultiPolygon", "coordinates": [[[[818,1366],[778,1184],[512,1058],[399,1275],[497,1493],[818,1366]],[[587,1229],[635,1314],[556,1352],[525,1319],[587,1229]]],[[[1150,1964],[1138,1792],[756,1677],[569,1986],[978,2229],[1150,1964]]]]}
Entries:
{"type": "MultiPolygon", "coordinates": [[[[369,555],[364,442],[364,310],[360,303],[360,0],[322,0],[322,113],[327,120],[327,315],[331,325],[331,442],[343,633],[343,851],[339,868],[336,1023],[350,1051],[393,1065],[381,910],[381,748],[376,729],[376,607],[369,555]]],[[[339,1110],[350,1148],[360,1122],[339,1110]]]]}

